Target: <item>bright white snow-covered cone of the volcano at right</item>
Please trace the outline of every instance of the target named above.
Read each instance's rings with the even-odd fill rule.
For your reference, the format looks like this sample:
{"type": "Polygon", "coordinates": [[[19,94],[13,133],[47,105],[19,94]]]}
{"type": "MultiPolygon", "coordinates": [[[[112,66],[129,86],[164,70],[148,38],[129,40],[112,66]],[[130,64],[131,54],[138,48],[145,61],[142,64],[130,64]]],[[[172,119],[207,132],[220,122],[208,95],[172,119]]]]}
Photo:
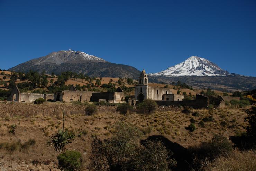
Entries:
{"type": "Polygon", "coordinates": [[[164,71],[150,75],[167,75],[167,76],[217,76],[228,75],[229,72],[222,70],[219,66],[204,58],[191,56],[175,66],[169,67],[164,71]]]}

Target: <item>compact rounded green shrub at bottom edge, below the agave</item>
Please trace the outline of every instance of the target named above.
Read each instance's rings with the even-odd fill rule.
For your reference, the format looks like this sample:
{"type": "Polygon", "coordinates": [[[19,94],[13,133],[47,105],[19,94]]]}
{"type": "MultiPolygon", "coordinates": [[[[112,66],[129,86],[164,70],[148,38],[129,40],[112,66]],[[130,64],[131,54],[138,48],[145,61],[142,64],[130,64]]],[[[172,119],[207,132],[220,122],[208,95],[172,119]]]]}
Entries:
{"type": "Polygon", "coordinates": [[[65,151],[58,155],[59,167],[64,171],[75,171],[81,166],[81,153],[65,151]]]}

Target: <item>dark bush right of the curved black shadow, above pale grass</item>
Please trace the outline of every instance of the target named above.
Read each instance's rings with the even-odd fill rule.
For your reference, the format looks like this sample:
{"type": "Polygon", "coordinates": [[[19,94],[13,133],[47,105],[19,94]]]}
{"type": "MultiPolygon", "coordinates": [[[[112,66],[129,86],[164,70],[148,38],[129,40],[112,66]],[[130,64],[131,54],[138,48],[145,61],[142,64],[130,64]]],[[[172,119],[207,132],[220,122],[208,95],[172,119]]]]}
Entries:
{"type": "Polygon", "coordinates": [[[210,141],[190,147],[196,167],[203,167],[220,156],[228,156],[233,148],[232,143],[223,135],[214,135],[210,141]]]}

